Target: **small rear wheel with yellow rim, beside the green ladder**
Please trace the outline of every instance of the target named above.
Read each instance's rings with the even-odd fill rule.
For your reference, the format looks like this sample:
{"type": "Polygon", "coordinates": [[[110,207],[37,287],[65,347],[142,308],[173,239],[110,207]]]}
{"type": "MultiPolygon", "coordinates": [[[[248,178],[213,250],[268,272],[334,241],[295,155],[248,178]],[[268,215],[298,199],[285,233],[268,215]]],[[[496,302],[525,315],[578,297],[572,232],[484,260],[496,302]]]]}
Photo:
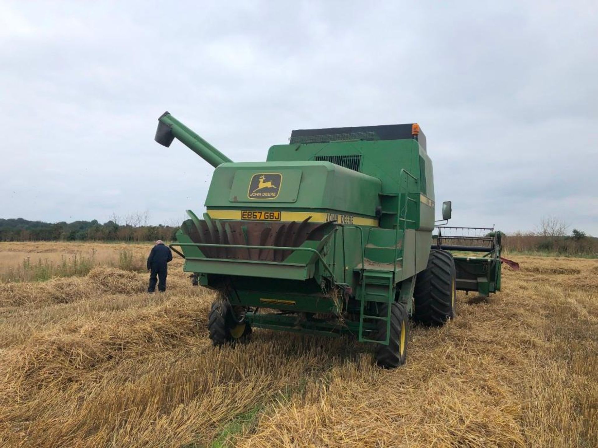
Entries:
{"type": "MultiPolygon", "coordinates": [[[[379,315],[386,316],[388,305],[379,306],[379,315]]],[[[405,305],[393,302],[390,309],[390,337],[388,345],[376,346],[376,364],[385,369],[402,366],[407,360],[409,317],[405,305]]],[[[377,339],[386,339],[386,321],[378,321],[377,339]]]]}

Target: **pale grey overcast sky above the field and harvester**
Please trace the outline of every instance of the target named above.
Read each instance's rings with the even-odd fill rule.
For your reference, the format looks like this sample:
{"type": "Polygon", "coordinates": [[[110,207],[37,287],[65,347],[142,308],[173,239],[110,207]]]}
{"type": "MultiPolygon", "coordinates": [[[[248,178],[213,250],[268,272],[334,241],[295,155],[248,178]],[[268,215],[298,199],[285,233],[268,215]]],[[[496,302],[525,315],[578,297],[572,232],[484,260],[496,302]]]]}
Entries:
{"type": "Polygon", "coordinates": [[[0,217],[202,211],[168,110],[234,161],[419,122],[454,225],[598,235],[597,47],[596,1],[0,1],[0,217]]]}

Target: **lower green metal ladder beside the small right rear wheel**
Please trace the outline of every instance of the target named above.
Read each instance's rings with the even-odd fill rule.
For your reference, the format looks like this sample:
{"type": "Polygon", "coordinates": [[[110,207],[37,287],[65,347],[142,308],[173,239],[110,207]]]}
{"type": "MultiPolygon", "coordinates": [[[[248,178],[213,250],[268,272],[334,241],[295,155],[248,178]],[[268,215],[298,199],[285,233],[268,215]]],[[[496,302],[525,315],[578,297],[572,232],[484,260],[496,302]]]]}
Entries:
{"type": "MultiPolygon", "coordinates": [[[[392,302],[395,301],[395,282],[393,272],[390,271],[370,271],[365,269],[361,279],[361,289],[359,290],[359,342],[377,342],[388,345],[390,340],[390,314],[392,312],[392,302]],[[386,303],[385,316],[373,316],[365,314],[368,309],[368,303],[386,303]],[[364,336],[364,320],[382,320],[386,322],[386,336],[384,339],[371,339],[364,336]]],[[[366,331],[368,329],[365,329],[366,331]]]]}

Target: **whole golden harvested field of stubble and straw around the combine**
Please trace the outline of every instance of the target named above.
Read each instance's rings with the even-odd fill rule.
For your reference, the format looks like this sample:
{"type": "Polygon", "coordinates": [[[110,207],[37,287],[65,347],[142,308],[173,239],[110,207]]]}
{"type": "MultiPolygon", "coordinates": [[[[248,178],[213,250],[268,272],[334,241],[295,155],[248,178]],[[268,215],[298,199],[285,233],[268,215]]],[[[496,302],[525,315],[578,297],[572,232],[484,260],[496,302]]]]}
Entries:
{"type": "Polygon", "coordinates": [[[598,260],[512,256],[502,293],[459,294],[457,318],[413,327],[407,364],[383,370],[344,339],[255,330],[213,349],[212,293],[180,259],[164,294],[117,267],[151,246],[0,254],[8,269],[94,248],[89,272],[0,283],[2,447],[598,446],[598,260]]]}

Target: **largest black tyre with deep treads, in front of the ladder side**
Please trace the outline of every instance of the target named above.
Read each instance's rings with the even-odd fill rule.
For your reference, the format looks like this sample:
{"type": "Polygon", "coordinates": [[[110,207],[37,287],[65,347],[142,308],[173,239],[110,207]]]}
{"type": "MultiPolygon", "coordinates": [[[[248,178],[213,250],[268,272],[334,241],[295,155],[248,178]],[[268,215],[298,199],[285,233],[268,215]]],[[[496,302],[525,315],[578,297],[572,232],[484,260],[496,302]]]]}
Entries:
{"type": "Polygon", "coordinates": [[[428,267],[417,274],[413,291],[413,320],[441,326],[456,315],[455,267],[446,250],[430,251],[428,267]]]}

